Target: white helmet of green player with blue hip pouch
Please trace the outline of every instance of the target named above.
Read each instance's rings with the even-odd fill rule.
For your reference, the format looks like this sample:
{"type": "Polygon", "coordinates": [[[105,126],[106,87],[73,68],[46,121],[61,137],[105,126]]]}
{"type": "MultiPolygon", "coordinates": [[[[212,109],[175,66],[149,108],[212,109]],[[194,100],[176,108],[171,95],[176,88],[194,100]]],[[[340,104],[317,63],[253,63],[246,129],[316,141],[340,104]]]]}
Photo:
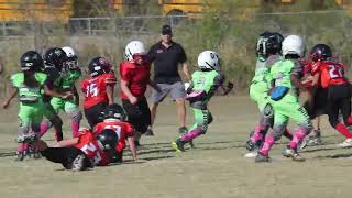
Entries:
{"type": "Polygon", "coordinates": [[[289,35],[283,41],[283,55],[297,54],[300,57],[304,56],[305,45],[300,36],[289,35]]]}

